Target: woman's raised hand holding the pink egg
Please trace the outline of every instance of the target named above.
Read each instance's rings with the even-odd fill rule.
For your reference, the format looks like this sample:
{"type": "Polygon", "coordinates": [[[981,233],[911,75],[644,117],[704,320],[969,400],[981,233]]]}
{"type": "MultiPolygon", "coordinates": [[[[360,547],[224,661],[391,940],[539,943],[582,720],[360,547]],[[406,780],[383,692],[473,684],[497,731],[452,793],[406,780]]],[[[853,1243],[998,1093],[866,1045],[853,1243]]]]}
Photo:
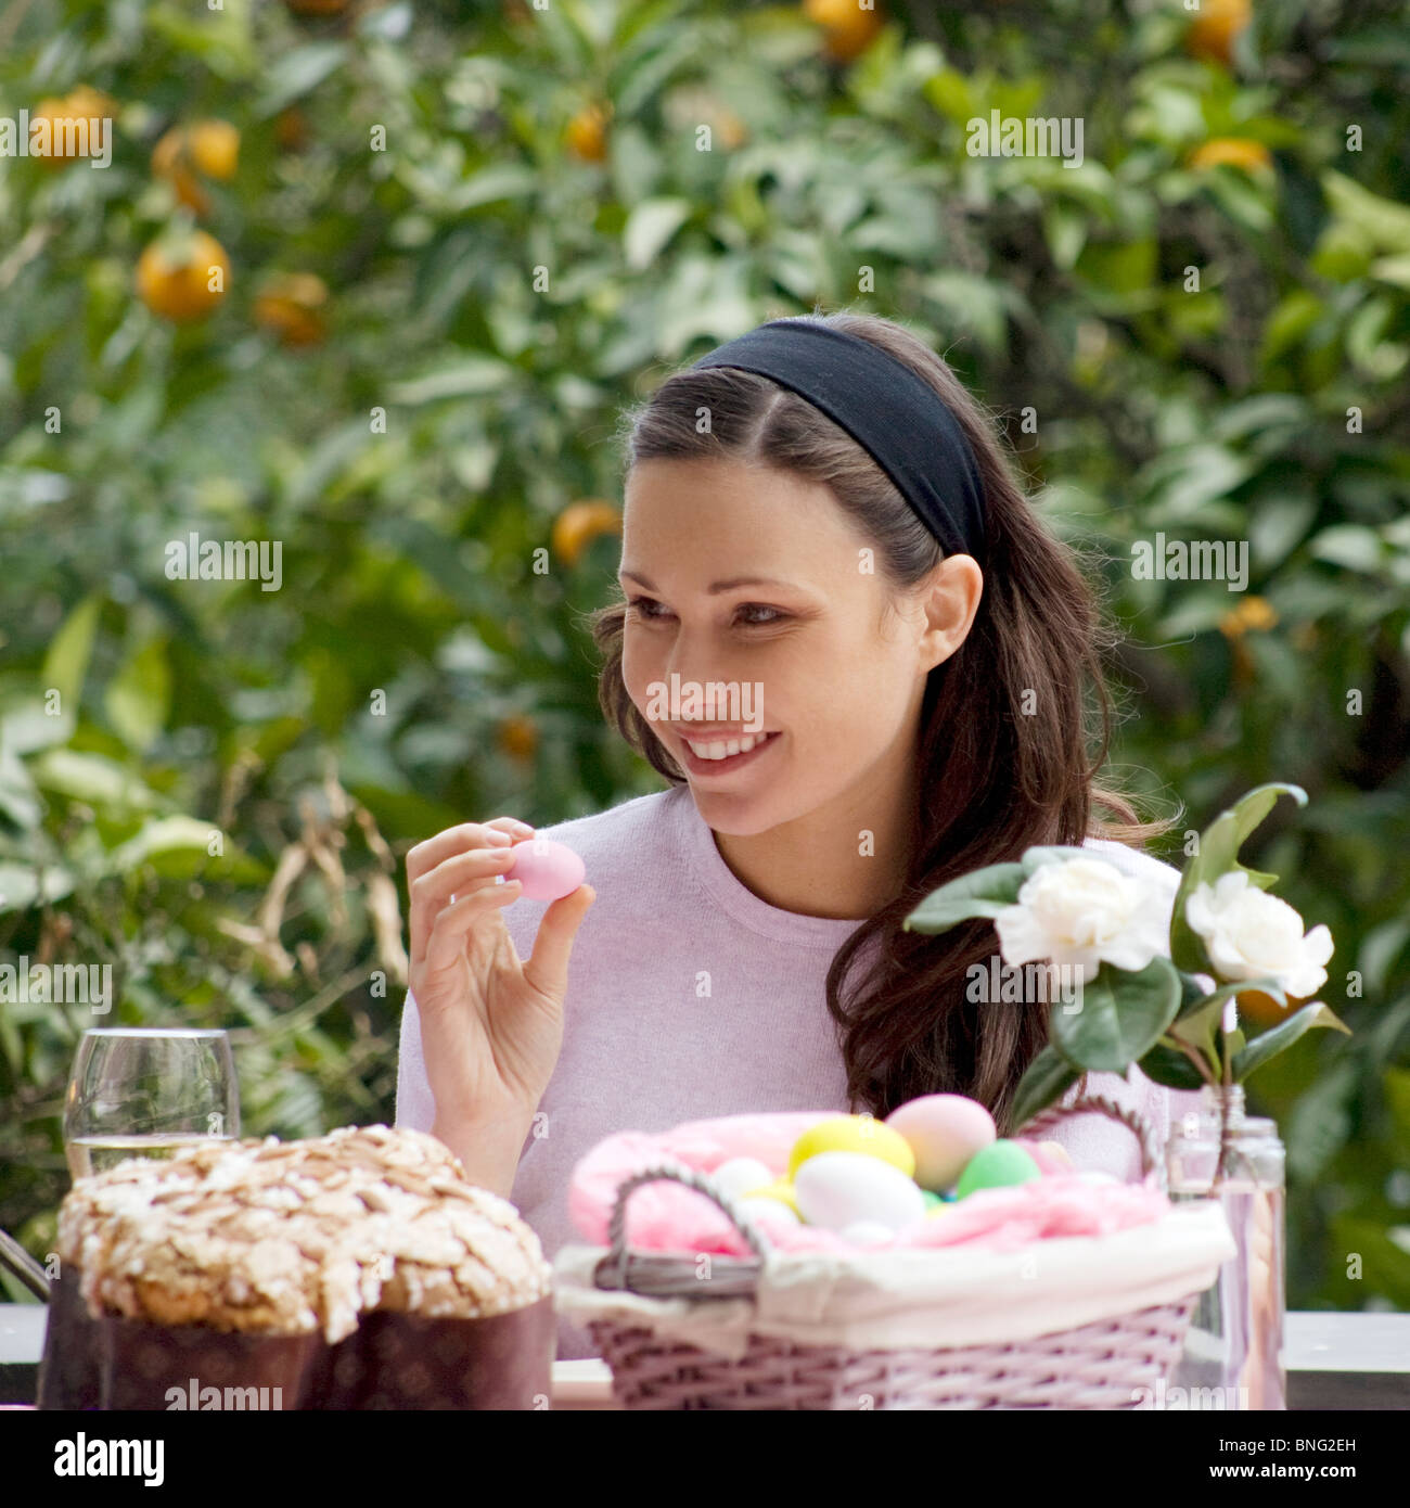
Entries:
{"type": "Polygon", "coordinates": [[[516,817],[464,822],[406,857],[410,988],[437,1126],[519,1123],[519,1143],[558,1062],[569,955],[597,899],[579,885],[555,900],[520,962],[499,908],[523,887],[495,876],[510,867],[514,838],[532,835],[516,817]]]}

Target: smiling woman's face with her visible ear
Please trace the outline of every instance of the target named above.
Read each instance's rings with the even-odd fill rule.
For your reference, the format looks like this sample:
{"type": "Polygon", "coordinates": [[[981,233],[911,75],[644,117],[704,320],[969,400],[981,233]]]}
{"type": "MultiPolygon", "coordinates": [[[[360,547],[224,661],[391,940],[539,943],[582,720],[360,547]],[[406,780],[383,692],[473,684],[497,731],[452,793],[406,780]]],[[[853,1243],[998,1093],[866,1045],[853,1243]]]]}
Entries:
{"type": "Polygon", "coordinates": [[[899,799],[926,673],[964,639],[980,584],[959,556],[887,620],[888,588],[829,489],[722,460],[632,469],[620,581],[627,694],[700,814],[737,835],[899,799]]]}

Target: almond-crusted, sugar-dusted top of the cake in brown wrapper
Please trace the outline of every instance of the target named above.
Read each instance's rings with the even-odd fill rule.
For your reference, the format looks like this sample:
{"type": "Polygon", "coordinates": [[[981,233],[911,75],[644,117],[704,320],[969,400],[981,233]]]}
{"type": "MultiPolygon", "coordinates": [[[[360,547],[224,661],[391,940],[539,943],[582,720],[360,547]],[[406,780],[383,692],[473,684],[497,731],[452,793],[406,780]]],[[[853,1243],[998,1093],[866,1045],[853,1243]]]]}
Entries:
{"type": "Polygon", "coordinates": [[[421,1131],[211,1142],[78,1179],[60,1262],[89,1312],[332,1345],[372,1310],[484,1318],[550,1292],[514,1206],[421,1131]]]}

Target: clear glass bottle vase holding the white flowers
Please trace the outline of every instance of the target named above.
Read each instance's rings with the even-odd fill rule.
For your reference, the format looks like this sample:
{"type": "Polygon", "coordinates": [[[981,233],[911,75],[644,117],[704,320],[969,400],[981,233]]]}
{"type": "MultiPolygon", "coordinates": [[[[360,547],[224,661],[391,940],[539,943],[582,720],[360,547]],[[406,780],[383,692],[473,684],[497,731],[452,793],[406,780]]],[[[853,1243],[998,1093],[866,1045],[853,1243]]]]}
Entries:
{"type": "Polygon", "coordinates": [[[1190,1408],[1286,1408],[1283,1371],[1283,1145],[1244,1114],[1241,1084],[1205,1084],[1170,1128],[1170,1199],[1217,1197],[1235,1255],[1194,1306],[1170,1383],[1190,1408]]]}

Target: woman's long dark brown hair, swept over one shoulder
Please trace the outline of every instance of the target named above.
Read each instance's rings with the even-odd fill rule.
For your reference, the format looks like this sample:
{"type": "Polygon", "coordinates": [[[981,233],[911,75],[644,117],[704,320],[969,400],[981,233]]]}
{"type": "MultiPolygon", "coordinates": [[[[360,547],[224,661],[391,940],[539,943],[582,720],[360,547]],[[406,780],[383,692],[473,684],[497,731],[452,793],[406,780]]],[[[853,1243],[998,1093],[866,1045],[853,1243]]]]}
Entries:
{"type": "MultiPolygon", "coordinates": [[[[938,885],[983,864],[1018,858],[1035,843],[1084,835],[1140,846],[1169,820],[1142,822],[1117,790],[1095,784],[1111,736],[1113,707],[1101,657],[1116,635],[1104,623],[1078,552],[1033,511],[991,419],[923,341],[878,315],[808,315],[872,341],[905,362],[955,413],[983,480],[985,591],[959,650],[927,676],[921,701],[918,841],[893,900],[863,921],[828,971],[854,1111],[887,1116],[926,1093],[962,1093],[1007,1126],[1013,1090],[1048,1039],[1047,1009],[965,998],[971,964],[988,970],[992,924],[941,936],[902,921],[938,885]],[[1024,692],[1031,692],[1025,697],[1024,692]],[[1095,808],[1114,820],[1102,820],[1095,808]],[[848,988],[869,939],[878,953],[848,988]]],[[[624,415],[626,469],[644,460],[728,458],[795,472],[831,489],[875,541],[876,569],[903,590],[943,550],[896,486],[838,425],[766,377],[733,368],[680,371],[624,415]],[[701,434],[697,415],[710,415],[701,434]]],[[[605,654],[599,700],[608,719],[668,781],[685,775],[627,695],[621,676],[626,606],[590,615],[605,654]]]]}

